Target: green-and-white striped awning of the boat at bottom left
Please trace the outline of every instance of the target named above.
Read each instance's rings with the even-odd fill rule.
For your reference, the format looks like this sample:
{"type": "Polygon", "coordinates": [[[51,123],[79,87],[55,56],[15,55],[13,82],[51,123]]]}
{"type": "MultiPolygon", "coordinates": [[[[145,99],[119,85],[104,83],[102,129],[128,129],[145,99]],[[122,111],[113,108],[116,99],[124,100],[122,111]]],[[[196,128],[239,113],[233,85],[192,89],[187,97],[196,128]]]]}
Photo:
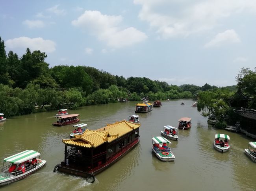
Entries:
{"type": "Polygon", "coordinates": [[[37,156],[40,156],[40,153],[33,150],[26,150],[21,153],[18,153],[13,156],[9,156],[4,159],[5,162],[13,163],[13,164],[19,164],[22,162],[25,162],[26,160],[30,160],[32,158],[35,158],[37,156]]]}

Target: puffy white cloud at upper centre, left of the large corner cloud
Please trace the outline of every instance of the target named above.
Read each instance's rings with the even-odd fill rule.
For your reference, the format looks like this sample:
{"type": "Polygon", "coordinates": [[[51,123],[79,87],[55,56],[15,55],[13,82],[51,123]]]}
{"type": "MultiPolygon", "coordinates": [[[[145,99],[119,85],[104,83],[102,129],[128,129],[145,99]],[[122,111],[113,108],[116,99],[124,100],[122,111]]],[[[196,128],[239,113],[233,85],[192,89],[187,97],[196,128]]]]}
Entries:
{"type": "Polygon", "coordinates": [[[122,28],[122,16],[102,15],[100,11],[85,11],[72,25],[91,30],[98,40],[108,46],[120,48],[133,45],[147,39],[145,33],[134,27],[122,28]]]}

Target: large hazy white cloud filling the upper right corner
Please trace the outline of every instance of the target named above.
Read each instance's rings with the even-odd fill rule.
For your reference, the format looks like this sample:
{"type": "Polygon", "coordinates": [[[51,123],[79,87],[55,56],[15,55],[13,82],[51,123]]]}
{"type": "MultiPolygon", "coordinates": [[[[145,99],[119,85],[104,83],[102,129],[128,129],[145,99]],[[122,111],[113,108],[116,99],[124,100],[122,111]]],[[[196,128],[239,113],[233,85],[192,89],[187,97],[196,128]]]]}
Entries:
{"type": "Polygon", "coordinates": [[[256,11],[254,0],[134,0],[134,4],[142,6],[139,18],[156,29],[160,38],[202,33],[224,18],[256,11]]]}

